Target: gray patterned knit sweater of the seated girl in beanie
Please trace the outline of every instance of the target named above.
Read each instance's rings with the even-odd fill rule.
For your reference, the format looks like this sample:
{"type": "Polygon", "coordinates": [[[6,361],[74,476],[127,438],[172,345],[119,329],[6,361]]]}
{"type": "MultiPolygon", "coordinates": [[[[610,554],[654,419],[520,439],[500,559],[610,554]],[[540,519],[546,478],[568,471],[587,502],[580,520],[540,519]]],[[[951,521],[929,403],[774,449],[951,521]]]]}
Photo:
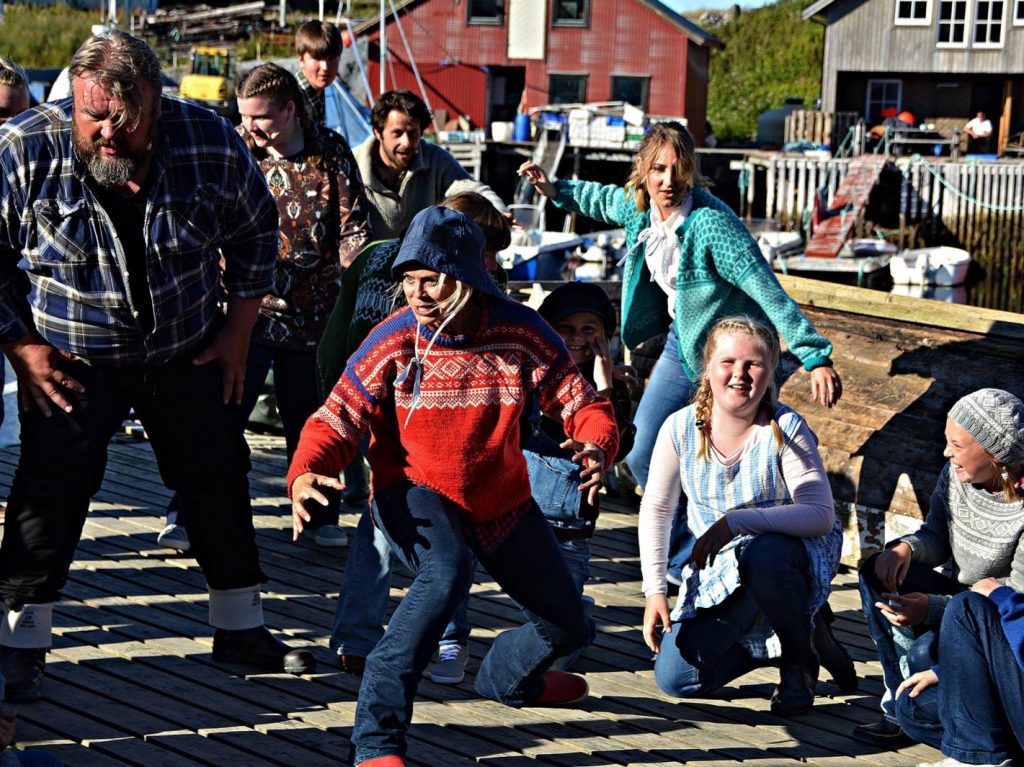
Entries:
{"type": "MultiPolygon", "coordinates": [[[[925,523],[899,541],[910,547],[914,562],[928,567],[951,559],[952,576],[964,586],[997,578],[1024,592],[1024,498],[1009,501],[1001,493],[961,482],[949,463],[939,475],[925,523]]],[[[938,626],[950,597],[929,597],[927,623],[938,626]]]]}

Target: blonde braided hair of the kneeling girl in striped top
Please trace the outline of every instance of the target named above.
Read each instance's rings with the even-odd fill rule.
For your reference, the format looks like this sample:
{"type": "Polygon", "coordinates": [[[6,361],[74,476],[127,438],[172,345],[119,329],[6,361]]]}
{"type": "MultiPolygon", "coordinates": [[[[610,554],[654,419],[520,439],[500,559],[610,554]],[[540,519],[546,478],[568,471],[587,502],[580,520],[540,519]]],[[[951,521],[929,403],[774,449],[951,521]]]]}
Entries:
{"type": "Polygon", "coordinates": [[[697,457],[706,461],[711,450],[711,412],[715,402],[715,395],[711,390],[711,382],[708,380],[708,368],[711,358],[715,354],[719,341],[726,336],[743,335],[750,336],[761,347],[765,355],[767,373],[770,376],[768,388],[765,389],[764,396],[758,404],[758,412],[771,422],[772,432],[775,434],[775,443],[779,448],[785,441],[782,429],[775,421],[775,410],[778,408],[778,390],[775,386],[775,369],[778,368],[778,358],[781,353],[779,349],[778,336],[774,331],[766,328],[761,323],[745,315],[728,316],[719,319],[712,326],[708,339],[705,341],[705,352],[702,370],[700,371],[700,382],[697,392],[693,395],[694,417],[696,419],[697,431],[700,434],[700,445],[697,450],[697,457]]]}

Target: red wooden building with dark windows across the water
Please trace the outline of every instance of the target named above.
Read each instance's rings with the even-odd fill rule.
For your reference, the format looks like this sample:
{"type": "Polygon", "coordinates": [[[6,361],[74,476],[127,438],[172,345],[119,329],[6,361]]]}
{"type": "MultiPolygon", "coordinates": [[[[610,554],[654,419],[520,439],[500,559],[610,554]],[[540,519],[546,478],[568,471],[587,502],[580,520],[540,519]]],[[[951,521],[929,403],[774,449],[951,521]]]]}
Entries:
{"type": "MultiPolygon", "coordinates": [[[[525,88],[529,106],[629,101],[685,117],[703,138],[708,60],[722,43],[658,0],[404,0],[394,8],[386,87],[418,93],[415,60],[430,105],[450,118],[512,120],[525,88]]],[[[379,19],[355,32],[371,42],[376,91],[379,19]]]]}

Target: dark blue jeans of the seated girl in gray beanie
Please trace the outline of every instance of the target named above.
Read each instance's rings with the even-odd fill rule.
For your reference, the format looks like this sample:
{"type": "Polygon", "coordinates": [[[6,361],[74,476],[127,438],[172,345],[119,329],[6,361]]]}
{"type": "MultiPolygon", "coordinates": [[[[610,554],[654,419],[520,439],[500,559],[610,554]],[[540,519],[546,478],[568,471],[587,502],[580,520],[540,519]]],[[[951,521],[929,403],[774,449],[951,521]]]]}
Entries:
{"type": "MultiPolygon", "coordinates": [[[[879,556],[874,554],[860,565],[860,604],[867,623],[867,634],[878,648],[882,665],[882,681],[886,686],[882,695],[882,714],[895,723],[896,688],[907,677],[906,654],[919,637],[937,627],[897,627],[883,616],[882,610],[874,606],[876,602],[883,601],[882,593],[888,591],[874,574],[874,562],[879,556]]],[[[964,587],[951,578],[912,561],[900,586],[902,594],[955,594],[963,590],[964,587]]]]}

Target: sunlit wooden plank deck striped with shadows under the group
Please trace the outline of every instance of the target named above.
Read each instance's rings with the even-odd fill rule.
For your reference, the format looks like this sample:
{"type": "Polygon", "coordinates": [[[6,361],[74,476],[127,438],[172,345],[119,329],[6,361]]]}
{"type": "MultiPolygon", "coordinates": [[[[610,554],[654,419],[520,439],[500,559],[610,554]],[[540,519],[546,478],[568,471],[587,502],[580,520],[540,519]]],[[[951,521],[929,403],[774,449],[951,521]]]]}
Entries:
{"type": "MultiPolygon", "coordinates": [[[[156,545],[169,494],[148,443],[118,437],[55,611],[45,697],[19,707],[22,747],[45,745],[74,767],[347,763],[358,680],[336,671],[327,646],[345,550],[291,543],[283,440],[253,435],[251,444],[254,513],[270,579],[267,624],[312,648],[318,672],[244,676],[212,664],[202,574],[191,558],[156,545]]],[[[9,483],[16,451],[0,452],[0,486],[9,483]]],[[[354,515],[342,523],[354,525],[354,515]]],[[[470,674],[455,687],[426,680],[420,686],[411,764],[902,767],[939,758],[922,745],[880,752],[848,736],[878,716],[881,692],[852,574],[841,574],[831,603],[837,633],[858,662],[861,690],[839,695],[823,680],[814,710],[786,720],[768,709],[772,669],[710,700],[660,694],[638,630],[635,512],[606,502],[593,548],[588,592],[599,634],[580,664],[591,696],[571,709],[522,710],[476,696],[471,677],[480,657],[498,632],[519,621],[510,600],[478,572],[470,674]]],[[[406,583],[395,580],[394,598],[406,583]]]]}

